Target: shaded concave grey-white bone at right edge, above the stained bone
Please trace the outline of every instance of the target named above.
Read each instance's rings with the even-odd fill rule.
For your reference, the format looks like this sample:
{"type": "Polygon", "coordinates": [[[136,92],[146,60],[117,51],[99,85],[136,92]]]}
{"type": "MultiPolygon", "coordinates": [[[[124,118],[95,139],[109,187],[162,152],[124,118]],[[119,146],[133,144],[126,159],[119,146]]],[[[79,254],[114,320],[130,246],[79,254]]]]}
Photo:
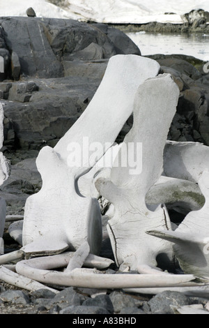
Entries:
{"type": "Polygon", "coordinates": [[[167,141],[164,148],[164,175],[198,182],[209,168],[209,147],[199,142],[167,141]]]}

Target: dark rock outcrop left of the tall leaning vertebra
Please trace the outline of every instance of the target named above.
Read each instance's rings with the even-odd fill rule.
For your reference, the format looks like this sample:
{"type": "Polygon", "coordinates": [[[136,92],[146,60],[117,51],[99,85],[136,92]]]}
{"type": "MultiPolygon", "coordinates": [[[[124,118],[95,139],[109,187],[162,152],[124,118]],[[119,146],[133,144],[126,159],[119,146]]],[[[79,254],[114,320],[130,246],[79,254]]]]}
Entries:
{"type": "Polygon", "coordinates": [[[54,146],[90,102],[109,58],[141,54],[125,33],[104,24],[9,17],[0,27],[8,148],[54,146]]]}

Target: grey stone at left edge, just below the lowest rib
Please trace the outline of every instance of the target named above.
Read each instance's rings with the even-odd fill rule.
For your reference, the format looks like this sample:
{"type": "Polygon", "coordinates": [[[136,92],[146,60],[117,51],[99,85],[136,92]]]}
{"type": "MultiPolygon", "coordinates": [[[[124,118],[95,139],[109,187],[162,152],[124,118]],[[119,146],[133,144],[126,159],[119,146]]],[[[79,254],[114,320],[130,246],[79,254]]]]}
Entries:
{"type": "Polygon", "coordinates": [[[29,304],[29,296],[21,290],[7,290],[0,295],[1,301],[12,304],[29,304]]]}

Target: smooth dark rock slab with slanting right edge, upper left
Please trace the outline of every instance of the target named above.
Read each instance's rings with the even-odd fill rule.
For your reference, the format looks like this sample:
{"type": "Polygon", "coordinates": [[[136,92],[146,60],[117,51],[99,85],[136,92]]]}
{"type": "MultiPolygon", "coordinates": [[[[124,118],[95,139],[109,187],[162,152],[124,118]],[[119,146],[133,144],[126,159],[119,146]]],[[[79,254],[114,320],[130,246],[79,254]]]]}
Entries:
{"type": "Polygon", "coordinates": [[[0,24],[5,32],[8,50],[19,57],[21,74],[63,76],[63,68],[47,41],[41,20],[33,17],[10,17],[7,20],[1,19],[0,24]],[[17,35],[21,37],[17,38],[17,35]]]}

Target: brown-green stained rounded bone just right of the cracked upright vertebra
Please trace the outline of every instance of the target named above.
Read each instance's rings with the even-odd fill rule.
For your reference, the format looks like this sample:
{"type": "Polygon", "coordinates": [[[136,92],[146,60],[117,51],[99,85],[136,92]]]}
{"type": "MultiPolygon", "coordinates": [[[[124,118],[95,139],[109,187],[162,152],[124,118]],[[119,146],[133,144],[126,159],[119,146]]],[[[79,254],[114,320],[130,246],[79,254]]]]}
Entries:
{"type": "Polygon", "coordinates": [[[203,207],[205,197],[192,181],[160,177],[146,195],[146,204],[166,204],[167,209],[188,214],[203,207]]]}

